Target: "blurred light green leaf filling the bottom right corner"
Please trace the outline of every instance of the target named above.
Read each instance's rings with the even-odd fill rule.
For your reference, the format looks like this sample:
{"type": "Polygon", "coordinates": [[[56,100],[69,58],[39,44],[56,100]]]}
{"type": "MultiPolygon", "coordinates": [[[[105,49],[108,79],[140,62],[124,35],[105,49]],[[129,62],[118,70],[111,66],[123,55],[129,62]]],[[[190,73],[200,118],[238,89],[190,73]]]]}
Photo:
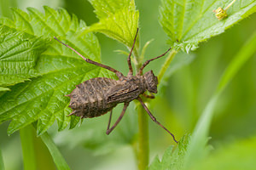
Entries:
{"type": "Polygon", "coordinates": [[[214,150],[193,169],[247,169],[256,167],[256,138],[245,139],[214,150]]]}

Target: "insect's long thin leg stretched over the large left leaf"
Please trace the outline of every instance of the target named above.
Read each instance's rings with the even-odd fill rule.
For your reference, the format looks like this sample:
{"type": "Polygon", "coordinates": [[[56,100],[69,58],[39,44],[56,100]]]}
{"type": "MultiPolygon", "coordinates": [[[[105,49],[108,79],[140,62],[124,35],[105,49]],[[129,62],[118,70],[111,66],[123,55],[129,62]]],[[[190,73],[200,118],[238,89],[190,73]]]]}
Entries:
{"type": "MultiPolygon", "coordinates": [[[[58,38],[56,38],[56,37],[55,37],[55,40],[57,40],[58,42],[61,42],[61,41],[60,41],[58,38]]],[[[73,52],[75,52],[76,54],[79,54],[79,52],[78,52],[77,50],[75,50],[74,48],[70,47],[70,46],[67,45],[66,43],[64,43],[64,42],[61,42],[61,43],[62,43],[63,45],[65,45],[67,48],[70,48],[71,50],[73,50],[73,52]]],[[[104,69],[108,69],[108,71],[114,72],[114,73],[116,74],[116,76],[119,77],[119,78],[120,78],[120,77],[124,77],[124,75],[123,75],[121,72],[119,72],[119,71],[113,69],[112,67],[110,67],[110,66],[108,66],[108,65],[102,65],[101,63],[97,63],[96,61],[87,59],[87,58],[85,58],[82,54],[79,54],[79,56],[82,57],[87,63],[90,63],[90,64],[92,64],[92,65],[97,65],[97,66],[100,66],[100,67],[102,67],[102,68],[104,68],[104,69]]]]}

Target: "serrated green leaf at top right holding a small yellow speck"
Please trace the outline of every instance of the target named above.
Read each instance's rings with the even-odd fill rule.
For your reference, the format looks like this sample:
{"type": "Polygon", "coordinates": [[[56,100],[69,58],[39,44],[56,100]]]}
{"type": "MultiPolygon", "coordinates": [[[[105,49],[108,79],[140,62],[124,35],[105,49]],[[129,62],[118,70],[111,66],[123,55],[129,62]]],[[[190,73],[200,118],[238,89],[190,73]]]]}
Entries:
{"type": "Polygon", "coordinates": [[[217,36],[239,20],[256,11],[255,0],[236,1],[228,10],[228,17],[218,20],[212,10],[225,8],[230,0],[162,0],[160,24],[175,49],[189,53],[199,42],[217,36]]]}

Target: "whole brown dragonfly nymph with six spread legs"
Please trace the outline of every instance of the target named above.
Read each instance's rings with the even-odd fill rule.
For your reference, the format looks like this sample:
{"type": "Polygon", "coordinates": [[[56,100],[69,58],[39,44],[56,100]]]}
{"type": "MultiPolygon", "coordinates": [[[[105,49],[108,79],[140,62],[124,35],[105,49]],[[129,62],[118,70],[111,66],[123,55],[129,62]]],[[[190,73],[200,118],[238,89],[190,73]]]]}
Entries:
{"type": "Polygon", "coordinates": [[[177,143],[174,135],[156,120],[156,118],[148,110],[148,107],[143,103],[143,99],[140,97],[140,95],[143,95],[146,98],[154,99],[154,94],[157,93],[158,79],[154,76],[152,70],[143,74],[143,69],[146,65],[149,64],[150,61],[153,61],[154,59],[159,59],[160,57],[168,53],[171,48],[169,48],[164,54],[161,54],[154,59],[148,59],[141,66],[139,71],[137,71],[136,76],[133,76],[133,69],[131,66],[131,54],[136,42],[137,32],[136,36],[134,37],[134,42],[132,44],[131,51],[127,59],[129,73],[126,77],[121,72],[113,69],[112,67],[109,67],[108,65],[102,65],[101,63],[97,63],[96,61],[84,58],[84,56],[82,54],[79,54],[79,52],[76,51],[74,48],[71,48],[66,43],[61,42],[55,37],[58,42],[61,42],[67,48],[72,49],[76,54],[79,54],[79,56],[82,57],[86,62],[105,68],[108,71],[113,71],[119,78],[119,80],[113,80],[107,77],[96,77],[77,85],[71,94],[67,94],[67,96],[70,97],[69,107],[73,109],[73,112],[68,116],[75,115],[80,116],[81,118],[91,118],[96,116],[102,116],[110,111],[108,128],[106,131],[106,133],[109,134],[113,131],[113,128],[119,124],[122,117],[125,115],[125,111],[129,103],[132,100],[137,99],[141,103],[141,105],[143,105],[145,111],[147,111],[148,116],[150,116],[150,118],[154,122],[159,124],[160,127],[164,128],[167,133],[170,133],[173,140],[177,143]],[[151,93],[151,95],[144,94],[146,91],[151,93]],[[121,112],[119,118],[113,124],[113,126],[110,127],[113,108],[119,103],[124,103],[123,111],[121,112]]]}

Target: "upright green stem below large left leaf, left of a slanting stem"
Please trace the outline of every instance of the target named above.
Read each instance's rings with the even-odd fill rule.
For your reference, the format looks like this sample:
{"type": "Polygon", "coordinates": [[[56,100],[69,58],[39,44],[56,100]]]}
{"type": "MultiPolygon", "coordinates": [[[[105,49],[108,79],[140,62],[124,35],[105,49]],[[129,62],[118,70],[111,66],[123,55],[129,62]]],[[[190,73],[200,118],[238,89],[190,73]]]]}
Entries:
{"type": "Polygon", "coordinates": [[[33,127],[28,125],[20,129],[23,164],[25,170],[37,169],[37,161],[33,143],[33,127]]]}

